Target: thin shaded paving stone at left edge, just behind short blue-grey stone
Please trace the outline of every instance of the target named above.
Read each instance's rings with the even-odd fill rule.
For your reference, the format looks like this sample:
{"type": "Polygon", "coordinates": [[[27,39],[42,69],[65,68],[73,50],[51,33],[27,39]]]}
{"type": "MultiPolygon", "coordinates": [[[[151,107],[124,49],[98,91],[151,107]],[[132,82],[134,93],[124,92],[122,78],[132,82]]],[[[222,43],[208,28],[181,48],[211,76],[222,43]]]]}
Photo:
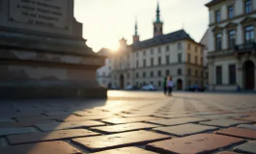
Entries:
{"type": "Polygon", "coordinates": [[[28,122],[12,122],[12,123],[1,123],[0,128],[11,128],[11,127],[33,127],[37,123],[52,123],[56,122],[55,120],[37,120],[37,121],[28,121],[28,122]]]}

